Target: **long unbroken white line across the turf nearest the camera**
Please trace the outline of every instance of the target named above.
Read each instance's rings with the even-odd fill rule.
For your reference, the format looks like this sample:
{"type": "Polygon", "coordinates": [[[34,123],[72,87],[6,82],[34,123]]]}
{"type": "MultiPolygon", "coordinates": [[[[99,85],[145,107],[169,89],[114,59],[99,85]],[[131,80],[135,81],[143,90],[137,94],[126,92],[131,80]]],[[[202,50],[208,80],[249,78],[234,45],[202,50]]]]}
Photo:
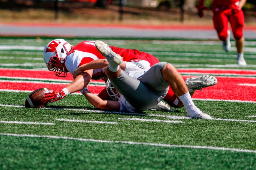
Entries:
{"type": "Polygon", "coordinates": [[[77,140],[77,141],[83,141],[83,142],[146,145],[146,146],[158,146],[158,147],[168,147],[168,148],[209,149],[209,150],[217,150],[217,151],[233,151],[233,152],[256,153],[255,150],[238,149],[238,148],[225,148],[225,147],[215,147],[215,146],[157,144],[157,143],[146,143],[146,142],[111,141],[111,140],[97,140],[97,139],[85,139],[85,138],[75,138],[75,137],[61,137],[61,136],[52,136],[52,135],[28,135],[28,134],[13,134],[13,133],[0,133],[0,135],[2,135],[2,136],[14,136],[14,137],[43,137],[43,138],[52,138],[52,139],[77,140]]]}

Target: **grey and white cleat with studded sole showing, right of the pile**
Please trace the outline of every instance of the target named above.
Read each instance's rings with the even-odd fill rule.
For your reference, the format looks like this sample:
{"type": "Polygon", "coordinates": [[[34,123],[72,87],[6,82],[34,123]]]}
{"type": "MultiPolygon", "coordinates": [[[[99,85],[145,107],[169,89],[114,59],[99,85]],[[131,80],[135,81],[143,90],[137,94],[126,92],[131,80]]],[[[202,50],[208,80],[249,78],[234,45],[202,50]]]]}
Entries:
{"type": "Polygon", "coordinates": [[[216,85],[217,78],[209,75],[186,78],[187,87],[192,90],[200,90],[205,87],[216,85]]]}

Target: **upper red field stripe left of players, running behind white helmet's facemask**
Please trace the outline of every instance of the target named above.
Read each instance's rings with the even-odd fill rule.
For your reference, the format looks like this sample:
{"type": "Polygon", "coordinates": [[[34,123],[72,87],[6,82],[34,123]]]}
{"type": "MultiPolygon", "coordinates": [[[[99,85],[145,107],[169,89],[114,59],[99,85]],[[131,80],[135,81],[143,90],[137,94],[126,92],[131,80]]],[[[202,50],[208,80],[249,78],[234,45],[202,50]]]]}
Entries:
{"type": "Polygon", "coordinates": [[[67,77],[61,78],[55,76],[53,71],[48,70],[0,69],[0,76],[74,80],[70,73],[68,73],[67,77]]]}

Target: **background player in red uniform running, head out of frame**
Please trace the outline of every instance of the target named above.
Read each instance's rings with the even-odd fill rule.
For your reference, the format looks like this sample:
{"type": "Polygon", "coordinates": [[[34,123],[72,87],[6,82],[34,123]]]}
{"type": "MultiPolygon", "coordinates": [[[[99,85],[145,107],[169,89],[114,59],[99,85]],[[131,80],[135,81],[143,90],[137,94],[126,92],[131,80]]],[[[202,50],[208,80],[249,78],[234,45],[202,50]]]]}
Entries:
{"type": "MultiPolygon", "coordinates": [[[[218,33],[219,39],[223,41],[223,49],[228,52],[230,50],[230,31],[228,30],[228,21],[231,24],[232,32],[236,40],[237,63],[246,66],[244,60],[244,13],[242,8],[246,0],[213,0],[213,24],[218,33]]],[[[204,0],[199,0],[198,5],[199,17],[204,17],[204,0]]]]}

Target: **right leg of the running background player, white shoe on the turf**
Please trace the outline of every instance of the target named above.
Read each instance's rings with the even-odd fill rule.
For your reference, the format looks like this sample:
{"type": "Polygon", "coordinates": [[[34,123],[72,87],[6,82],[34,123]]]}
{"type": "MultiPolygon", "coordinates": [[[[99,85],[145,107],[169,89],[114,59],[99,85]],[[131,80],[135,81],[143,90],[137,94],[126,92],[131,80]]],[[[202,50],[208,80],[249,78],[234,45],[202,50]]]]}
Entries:
{"type": "Polygon", "coordinates": [[[244,60],[244,12],[242,10],[229,16],[229,21],[236,40],[237,63],[239,65],[247,65],[244,60]]]}

